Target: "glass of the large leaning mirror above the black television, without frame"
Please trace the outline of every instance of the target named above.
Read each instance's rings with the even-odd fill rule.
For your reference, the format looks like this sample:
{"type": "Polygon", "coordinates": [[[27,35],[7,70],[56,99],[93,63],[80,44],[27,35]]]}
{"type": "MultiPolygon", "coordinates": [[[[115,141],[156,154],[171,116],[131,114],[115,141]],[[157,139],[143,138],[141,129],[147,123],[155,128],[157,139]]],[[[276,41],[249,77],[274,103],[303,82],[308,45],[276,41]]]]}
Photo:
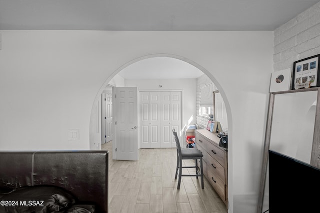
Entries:
{"type": "Polygon", "coordinates": [[[310,164],[316,91],[274,97],[270,150],[310,164]]]}

